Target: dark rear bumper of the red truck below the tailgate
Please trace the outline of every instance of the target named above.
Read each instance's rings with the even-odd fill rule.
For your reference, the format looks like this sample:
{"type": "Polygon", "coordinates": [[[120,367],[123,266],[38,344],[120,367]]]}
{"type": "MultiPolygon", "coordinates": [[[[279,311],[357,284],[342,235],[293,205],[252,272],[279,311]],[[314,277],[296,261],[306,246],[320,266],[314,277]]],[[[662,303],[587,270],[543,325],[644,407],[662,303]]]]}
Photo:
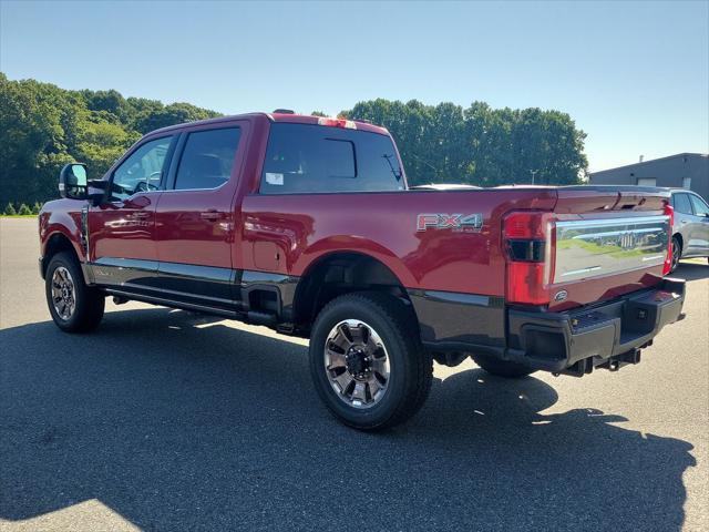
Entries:
{"type": "Polygon", "coordinates": [[[583,375],[639,361],[639,349],[681,317],[685,282],[666,278],[647,290],[567,313],[510,309],[506,360],[583,375]]]}

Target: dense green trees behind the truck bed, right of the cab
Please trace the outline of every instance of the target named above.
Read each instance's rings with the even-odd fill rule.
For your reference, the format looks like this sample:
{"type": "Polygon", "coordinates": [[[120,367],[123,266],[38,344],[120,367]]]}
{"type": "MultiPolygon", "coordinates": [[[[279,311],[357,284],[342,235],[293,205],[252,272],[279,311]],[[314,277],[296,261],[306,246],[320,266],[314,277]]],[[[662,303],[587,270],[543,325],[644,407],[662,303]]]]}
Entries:
{"type": "Polygon", "coordinates": [[[530,171],[540,183],[573,184],[588,165],[585,133],[558,111],[378,99],[341,114],[384,125],[397,140],[411,184],[528,183],[530,171]]]}

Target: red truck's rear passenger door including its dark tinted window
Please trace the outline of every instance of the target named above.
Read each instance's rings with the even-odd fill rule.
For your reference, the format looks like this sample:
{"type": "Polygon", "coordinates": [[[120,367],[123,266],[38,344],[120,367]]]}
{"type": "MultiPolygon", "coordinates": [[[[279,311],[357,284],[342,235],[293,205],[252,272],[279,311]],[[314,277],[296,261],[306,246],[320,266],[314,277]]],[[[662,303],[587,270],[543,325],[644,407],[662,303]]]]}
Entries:
{"type": "Polygon", "coordinates": [[[186,130],[156,209],[158,277],[165,297],[232,307],[234,196],[248,123],[186,130]]]}

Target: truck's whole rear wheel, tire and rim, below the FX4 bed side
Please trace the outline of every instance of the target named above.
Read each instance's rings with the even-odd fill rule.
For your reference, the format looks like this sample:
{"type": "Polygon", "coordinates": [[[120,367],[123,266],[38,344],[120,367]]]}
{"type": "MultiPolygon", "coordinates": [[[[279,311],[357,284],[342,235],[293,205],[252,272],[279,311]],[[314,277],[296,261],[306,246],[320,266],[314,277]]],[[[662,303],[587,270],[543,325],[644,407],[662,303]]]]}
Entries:
{"type": "Polygon", "coordinates": [[[424,403],[433,378],[415,316],[378,293],[340,296],[318,315],[310,337],[310,372],[325,405],[361,430],[393,427],[424,403]]]}

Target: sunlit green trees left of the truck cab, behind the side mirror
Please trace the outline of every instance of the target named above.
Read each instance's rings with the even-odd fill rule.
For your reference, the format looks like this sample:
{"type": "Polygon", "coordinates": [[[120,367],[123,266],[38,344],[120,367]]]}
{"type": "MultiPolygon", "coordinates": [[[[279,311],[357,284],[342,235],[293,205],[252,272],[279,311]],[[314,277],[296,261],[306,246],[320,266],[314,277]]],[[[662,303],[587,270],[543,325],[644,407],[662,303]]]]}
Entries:
{"type": "Polygon", "coordinates": [[[0,204],[56,197],[63,164],[100,177],[137,139],[157,127],[216,116],[189,104],[124,99],[117,91],[66,91],[0,73],[0,204]]]}

